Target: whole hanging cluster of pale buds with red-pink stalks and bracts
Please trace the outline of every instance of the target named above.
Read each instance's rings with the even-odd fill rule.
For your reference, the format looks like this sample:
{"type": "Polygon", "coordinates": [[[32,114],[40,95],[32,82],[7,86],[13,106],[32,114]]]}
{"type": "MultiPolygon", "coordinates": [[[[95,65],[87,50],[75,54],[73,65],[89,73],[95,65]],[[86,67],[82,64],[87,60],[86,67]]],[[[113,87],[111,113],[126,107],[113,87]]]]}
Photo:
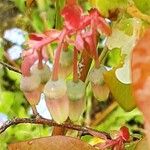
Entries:
{"type": "Polygon", "coordinates": [[[34,110],[40,94],[44,92],[48,110],[58,123],[63,123],[68,117],[77,121],[84,111],[86,85],[78,76],[78,54],[83,51],[95,61],[89,77],[93,91],[96,91],[95,97],[99,100],[108,98],[109,89],[103,79],[106,70],[100,65],[97,45],[100,34],[111,34],[108,23],[95,8],[84,13],[76,1],[68,0],[61,15],[64,18],[62,30],[50,29],[43,34],[30,34],[29,49],[22,54],[20,85],[34,110]],[[45,62],[49,58],[47,46],[53,43],[57,47],[51,71],[45,62]],[[72,68],[73,79],[66,83],[72,68]],[[93,78],[96,76],[100,77],[95,82],[93,78]],[[99,93],[99,90],[104,92],[99,93]]]}

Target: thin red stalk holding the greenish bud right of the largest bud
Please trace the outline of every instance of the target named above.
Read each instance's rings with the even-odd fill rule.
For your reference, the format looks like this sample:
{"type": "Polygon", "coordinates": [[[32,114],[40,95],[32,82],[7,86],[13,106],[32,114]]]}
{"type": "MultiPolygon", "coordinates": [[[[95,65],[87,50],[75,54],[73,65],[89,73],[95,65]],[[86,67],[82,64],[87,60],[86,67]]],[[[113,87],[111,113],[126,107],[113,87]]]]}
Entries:
{"type": "Polygon", "coordinates": [[[73,81],[78,82],[78,50],[76,48],[73,53],[73,81]]]}

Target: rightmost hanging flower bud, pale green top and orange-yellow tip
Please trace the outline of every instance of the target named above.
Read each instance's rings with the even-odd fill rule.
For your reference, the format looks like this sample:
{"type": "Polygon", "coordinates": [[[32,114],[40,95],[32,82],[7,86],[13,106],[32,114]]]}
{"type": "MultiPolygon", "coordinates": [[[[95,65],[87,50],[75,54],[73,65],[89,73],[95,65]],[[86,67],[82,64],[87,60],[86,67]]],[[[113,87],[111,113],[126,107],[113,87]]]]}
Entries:
{"type": "Polygon", "coordinates": [[[106,71],[104,66],[98,69],[93,68],[89,72],[89,81],[91,82],[94,97],[99,101],[105,101],[109,96],[109,88],[104,81],[103,73],[106,71]]]}

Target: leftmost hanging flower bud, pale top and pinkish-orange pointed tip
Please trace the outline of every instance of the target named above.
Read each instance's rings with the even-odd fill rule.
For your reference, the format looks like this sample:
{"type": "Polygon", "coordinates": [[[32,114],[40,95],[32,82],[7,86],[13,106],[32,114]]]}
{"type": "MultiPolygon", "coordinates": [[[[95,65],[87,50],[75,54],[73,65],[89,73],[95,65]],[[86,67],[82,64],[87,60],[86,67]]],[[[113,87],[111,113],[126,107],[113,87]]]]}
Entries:
{"type": "Polygon", "coordinates": [[[38,75],[22,76],[20,89],[23,91],[30,105],[37,105],[41,95],[41,80],[38,75]]]}

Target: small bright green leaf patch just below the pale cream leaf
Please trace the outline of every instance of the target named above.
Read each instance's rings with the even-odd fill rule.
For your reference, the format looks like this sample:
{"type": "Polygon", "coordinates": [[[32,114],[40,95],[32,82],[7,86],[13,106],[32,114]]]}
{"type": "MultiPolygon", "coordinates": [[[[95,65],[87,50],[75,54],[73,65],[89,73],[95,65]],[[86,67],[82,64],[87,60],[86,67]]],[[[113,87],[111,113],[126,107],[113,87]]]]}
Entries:
{"type": "Polygon", "coordinates": [[[113,48],[110,50],[106,57],[106,66],[117,67],[121,62],[121,49],[113,48]]]}

